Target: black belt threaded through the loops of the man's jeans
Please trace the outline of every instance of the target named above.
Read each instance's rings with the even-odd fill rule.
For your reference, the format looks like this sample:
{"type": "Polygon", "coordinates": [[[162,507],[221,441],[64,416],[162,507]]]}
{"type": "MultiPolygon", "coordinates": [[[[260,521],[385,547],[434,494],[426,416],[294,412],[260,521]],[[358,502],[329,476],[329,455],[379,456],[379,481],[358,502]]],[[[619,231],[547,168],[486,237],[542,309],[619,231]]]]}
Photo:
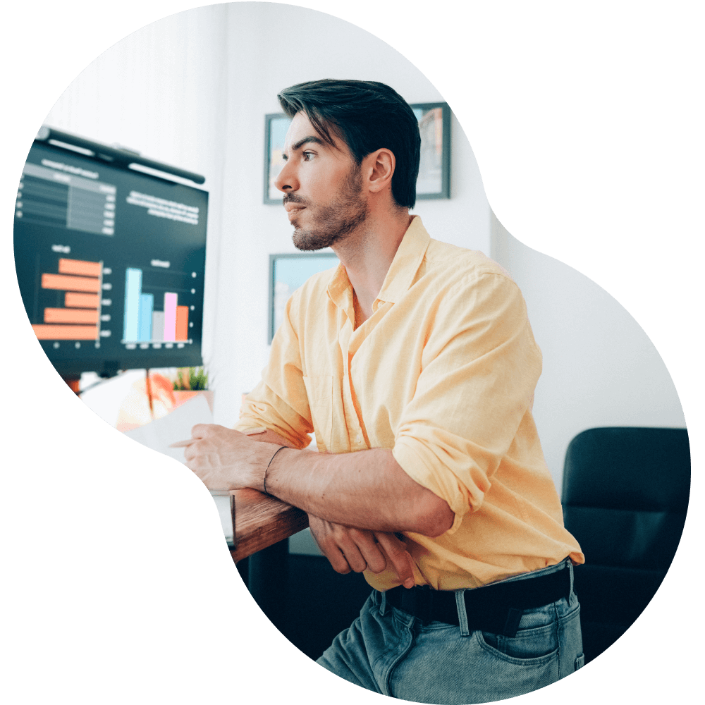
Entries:
{"type": "MultiPolygon", "coordinates": [[[[444,622],[459,626],[455,591],[434,590],[428,586],[407,589],[400,585],[387,590],[386,604],[423,623],[444,622]]],[[[501,582],[465,590],[465,613],[468,629],[515,637],[525,610],[544,607],[570,596],[568,566],[544,576],[501,582]]]]}

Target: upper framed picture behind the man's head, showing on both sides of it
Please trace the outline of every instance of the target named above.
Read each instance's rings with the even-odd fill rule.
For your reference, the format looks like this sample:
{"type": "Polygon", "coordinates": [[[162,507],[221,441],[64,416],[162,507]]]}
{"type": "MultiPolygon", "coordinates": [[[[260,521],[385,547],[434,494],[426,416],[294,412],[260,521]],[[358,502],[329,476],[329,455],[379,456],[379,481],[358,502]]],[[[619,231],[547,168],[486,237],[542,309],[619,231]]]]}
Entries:
{"type": "MultiPolygon", "coordinates": [[[[414,103],[411,108],[421,131],[417,200],[450,198],[450,106],[448,103],[414,103]]],[[[291,119],[283,113],[264,117],[264,203],[281,206],[282,194],[274,180],[284,166],[281,153],[291,119]]]]}

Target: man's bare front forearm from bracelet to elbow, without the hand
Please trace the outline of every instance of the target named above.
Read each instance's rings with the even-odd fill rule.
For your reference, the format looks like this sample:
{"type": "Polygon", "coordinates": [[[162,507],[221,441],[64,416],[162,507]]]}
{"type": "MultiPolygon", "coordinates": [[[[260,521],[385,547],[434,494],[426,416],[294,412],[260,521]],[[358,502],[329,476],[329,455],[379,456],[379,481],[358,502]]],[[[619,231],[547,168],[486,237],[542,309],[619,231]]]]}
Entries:
{"type": "Polygon", "coordinates": [[[286,448],[269,465],[266,491],[359,529],[440,536],[453,525],[448,503],[411,479],[385,448],[338,455],[286,448]]]}

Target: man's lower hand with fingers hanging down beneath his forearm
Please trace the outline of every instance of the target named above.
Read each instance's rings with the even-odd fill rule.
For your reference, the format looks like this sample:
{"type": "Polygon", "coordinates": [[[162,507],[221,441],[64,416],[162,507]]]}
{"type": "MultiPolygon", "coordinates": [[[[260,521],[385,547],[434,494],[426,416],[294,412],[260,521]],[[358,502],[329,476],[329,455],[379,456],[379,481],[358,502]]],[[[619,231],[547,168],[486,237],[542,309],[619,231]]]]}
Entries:
{"type": "Polygon", "coordinates": [[[311,533],[333,570],[374,573],[391,568],[405,587],[414,586],[413,562],[403,541],[394,534],[355,529],[327,522],[309,514],[311,533]]]}

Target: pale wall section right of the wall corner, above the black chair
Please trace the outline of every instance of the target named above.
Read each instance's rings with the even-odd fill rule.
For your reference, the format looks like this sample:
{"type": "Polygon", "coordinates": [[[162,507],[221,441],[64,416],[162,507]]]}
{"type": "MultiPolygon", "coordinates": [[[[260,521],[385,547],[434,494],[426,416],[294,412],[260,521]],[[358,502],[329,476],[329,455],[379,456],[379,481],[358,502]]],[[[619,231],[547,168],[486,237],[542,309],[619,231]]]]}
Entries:
{"type": "Polygon", "coordinates": [[[517,240],[494,213],[491,229],[491,257],[522,290],[544,356],[534,417],[558,489],[565,450],[581,431],[685,428],[668,367],[632,314],[582,272],[517,240]]]}

